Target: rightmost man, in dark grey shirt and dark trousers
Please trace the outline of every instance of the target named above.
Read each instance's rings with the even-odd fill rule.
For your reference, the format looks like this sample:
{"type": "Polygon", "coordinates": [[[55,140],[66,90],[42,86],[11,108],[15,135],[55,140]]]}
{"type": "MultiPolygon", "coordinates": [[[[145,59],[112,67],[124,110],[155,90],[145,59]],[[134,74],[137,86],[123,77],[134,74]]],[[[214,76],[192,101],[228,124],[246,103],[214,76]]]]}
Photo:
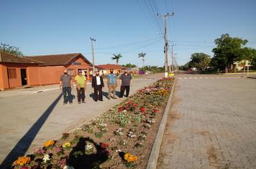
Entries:
{"type": "Polygon", "coordinates": [[[129,87],[132,84],[132,76],[131,74],[128,74],[127,70],[125,70],[124,74],[121,75],[120,77],[120,84],[121,84],[121,89],[120,89],[120,97],[124,96],[124,91],[126,90],[126,95],[125,97],[129,97],[129,87]]]}

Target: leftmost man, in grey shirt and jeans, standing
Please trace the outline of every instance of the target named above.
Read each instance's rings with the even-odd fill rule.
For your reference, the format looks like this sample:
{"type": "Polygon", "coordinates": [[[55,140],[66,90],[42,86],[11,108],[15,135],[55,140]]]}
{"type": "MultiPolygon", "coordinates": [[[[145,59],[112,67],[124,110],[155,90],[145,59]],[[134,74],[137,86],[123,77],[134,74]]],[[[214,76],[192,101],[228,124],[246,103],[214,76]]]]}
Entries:
{"type": "Polygon", "coordinates": [[[68,74],[67,70],[64,70],[64,74],[60,77],[60,90],[63,91],[64,101],[63,104],[68,102],[72,104],[73,95],[71,95],[71,90],[73,89],[72,77],[68,74]],[[67,96],[68,95],[68,96],[67,96]]]}

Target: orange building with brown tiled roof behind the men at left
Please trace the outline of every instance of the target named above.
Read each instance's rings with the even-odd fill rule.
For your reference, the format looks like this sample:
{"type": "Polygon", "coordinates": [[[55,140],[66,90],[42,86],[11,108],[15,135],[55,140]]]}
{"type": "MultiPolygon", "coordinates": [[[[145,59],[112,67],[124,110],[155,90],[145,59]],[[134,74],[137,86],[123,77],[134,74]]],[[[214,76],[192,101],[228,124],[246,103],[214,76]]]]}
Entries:
{"type": "Polygon", "coordinates": [[[81,53],[18,57],[0,53],[0,90],[58,84],[65,69],[73,79],[82,70],[90,79],[91,62],[81,53]]]}

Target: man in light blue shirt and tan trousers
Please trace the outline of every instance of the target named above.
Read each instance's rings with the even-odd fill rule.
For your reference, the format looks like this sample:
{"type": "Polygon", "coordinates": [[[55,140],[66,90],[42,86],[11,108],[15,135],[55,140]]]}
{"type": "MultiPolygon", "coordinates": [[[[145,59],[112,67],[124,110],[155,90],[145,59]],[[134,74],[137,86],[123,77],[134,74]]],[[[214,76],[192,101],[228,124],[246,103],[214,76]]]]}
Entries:
{"type": "Polygon", "coordinates": [[[106,78],[107,78],[106,83],[109,87],[108,99],[110,100],[111,98],[111,91],[113,91],[113,98],[117,99],[116,97],[117,80],[116,80],[116,74],[114,74],[114,69],[110,69],[110,74],[108,74],[106,78]]]}

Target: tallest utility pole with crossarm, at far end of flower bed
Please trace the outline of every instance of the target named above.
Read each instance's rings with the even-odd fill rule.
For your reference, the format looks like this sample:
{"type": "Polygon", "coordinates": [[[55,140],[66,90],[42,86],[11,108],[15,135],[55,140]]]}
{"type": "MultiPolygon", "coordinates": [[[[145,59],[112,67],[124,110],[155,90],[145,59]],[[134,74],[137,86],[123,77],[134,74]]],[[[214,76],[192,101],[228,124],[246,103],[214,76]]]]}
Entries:
{"type": "Polygon", "coordinates": [[[169,77],[168,74],[168,41],[167,41],[167,30],[166,30],[166,26],[167,26],[167,18],[168,16],[173,16],[174,13],[172,14],[164,14],[164,15],[158,15],[157,16],[162,16],[165,19],[165,47],[164,47],[164,53],[165,53],[165,77],[169,77]]]}

